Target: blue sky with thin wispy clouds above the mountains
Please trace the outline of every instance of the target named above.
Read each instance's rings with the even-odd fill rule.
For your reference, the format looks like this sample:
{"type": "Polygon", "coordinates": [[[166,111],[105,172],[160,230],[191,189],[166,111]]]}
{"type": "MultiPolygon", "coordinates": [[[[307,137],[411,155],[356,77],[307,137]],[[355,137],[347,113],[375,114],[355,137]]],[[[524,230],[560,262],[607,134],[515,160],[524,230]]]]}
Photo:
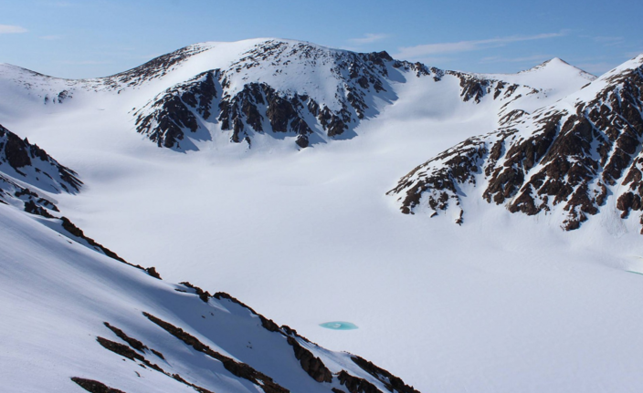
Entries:
{"type": "Polygon", "coordinates": [[[0,62],[111,75],[203,41],[281,37],[471,72],[561,57],[601,74],[643,53],[640,0],[0,0],[0,62]]]}

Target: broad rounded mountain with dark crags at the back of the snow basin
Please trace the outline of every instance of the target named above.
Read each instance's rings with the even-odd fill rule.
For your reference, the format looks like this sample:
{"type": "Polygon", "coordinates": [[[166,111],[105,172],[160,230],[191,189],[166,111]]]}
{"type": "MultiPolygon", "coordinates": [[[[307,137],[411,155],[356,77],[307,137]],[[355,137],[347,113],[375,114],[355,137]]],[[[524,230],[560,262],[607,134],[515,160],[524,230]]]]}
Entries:
{"type": "Polygon", "coordinates": [[[298,149],[350,139],[364,118],[372,119],[395,103],[398,97],[393,85],[416,83],[413,75],[435,82],[456,78],[459,91],[450,94],[458,94],[464,102],[472,99],[480,103],[486,94],[507,104],[529,94],[546,96],[538,93],[538,87],[503,82],[498,76],[489,79],[441,70],[395,60],[385,52],[355,53],[278,39],[195,44],[105,78],[68,80],[30,73],[39,76],[31,81],[28,76],[4,74],[5,82],[13,78],[45,104],[74,101],[74,97],[86,100],[90,92],[101,91],[133,97],[144,89],[144,93],[137,93],[142,98],[132,102],[136,131],[159,147],[181,151],[197,150],[197,142],[212,140],[213,131],[227,133],[235,143],[245,141],[248,148],[257,135],[287,137],[298,149]],[[201,113],[194,102],[189,98],[184,102],[182,97],[199,94],[186,90],[207,72],[214,72],[216,78],[210,81],[200,107],[209,104],[212,108],[201,113]]]}

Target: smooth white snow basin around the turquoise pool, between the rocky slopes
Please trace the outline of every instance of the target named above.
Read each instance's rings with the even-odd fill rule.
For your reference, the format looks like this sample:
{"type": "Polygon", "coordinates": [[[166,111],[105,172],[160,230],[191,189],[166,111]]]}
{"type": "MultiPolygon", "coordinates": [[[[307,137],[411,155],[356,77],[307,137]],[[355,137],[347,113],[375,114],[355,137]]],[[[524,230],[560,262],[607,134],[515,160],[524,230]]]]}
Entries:
{"type": "MultiPolygon", "coordinates": [[[[214,129],[212,140],[196,142],[199,151],[177,153],[134,131],[132,107],[239,53],[223,47],[197,55],[180,75],[120,94],[79,93],[61,105],[3,102],[0,123],[79,172],[84,190],[54,199],[130,263],[230,293],[423,392],[640,391],[643,283],[626,272],[643,270],[638,233],[617,219],[564,233],[547,217],[512,215],[481,198],[466,199],[458,226],[453,217],[403,215],[385,196],[416,165],[495,129],[495,102],[465,103],[455,81],[431,88],[409,77],[391,82],[399,99],[364,120],[356,138],[304,150],[269,138],[248,150],[214,129]],[[336,319],[360,328],[338,334],[318,325],[336,319]]],[[[496,77],[558,86],[531,75],[496,77]]],[[[566,91],[513,105],[551,104],[590,80],[570,75],[577,78],[566,91]]],[[[16,310],[4,301],[3,315],[46,312],[56,320],[57,310],[38,304],[16,310]]],[[[40,344],[47,342],[35,341],[34,353],[40,344]]]]}

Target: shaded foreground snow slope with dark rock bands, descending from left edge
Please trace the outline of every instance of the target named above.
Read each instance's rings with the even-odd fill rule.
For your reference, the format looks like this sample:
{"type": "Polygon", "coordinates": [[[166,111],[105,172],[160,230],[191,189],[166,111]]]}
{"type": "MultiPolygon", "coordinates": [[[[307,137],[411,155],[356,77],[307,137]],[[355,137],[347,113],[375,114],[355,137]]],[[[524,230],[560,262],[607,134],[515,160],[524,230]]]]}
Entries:
{"type": "Polygon", "coordinates": [[[5,392],[415,392],[229,295],[165,283],[27,215],[0,205],[5,392]]]}

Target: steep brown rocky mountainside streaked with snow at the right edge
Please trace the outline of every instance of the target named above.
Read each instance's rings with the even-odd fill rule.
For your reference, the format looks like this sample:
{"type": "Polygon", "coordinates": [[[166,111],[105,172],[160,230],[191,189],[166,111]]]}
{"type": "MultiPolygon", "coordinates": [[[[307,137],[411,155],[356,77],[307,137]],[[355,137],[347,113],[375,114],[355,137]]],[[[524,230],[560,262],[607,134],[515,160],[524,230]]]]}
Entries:
{"type": "Polygon", "coordinates": [[[635,215],[643,210],[642,63],[637,57],[532,115],[508,113],[501,129],[428,160],[389,194],[404,213],[427,206],[436,215],[451,207],[459,209],[459,222],[467,185],[483,188],[482,198],[510,212],[555,214],[565,230],[607,204],[623,219],[635,215]]]}

